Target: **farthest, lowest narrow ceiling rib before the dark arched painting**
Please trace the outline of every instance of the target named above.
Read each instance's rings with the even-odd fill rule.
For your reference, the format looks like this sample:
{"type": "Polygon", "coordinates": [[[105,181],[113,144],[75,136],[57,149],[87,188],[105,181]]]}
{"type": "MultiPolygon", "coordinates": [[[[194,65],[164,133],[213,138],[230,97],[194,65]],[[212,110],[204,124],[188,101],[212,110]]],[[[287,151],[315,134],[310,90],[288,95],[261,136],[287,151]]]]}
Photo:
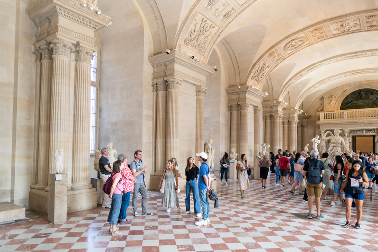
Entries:
{"type": "Polygon", "coordinates": [[[334,81],[334,80],[337,80],[337,79],[340,79],[340,78],[345,78],[345,77],[352,76],[352,75],[369,74],[369,73],[378,73],[378,68],[358,69],[358,70],[354,70],[354,71],[348,71],[348,72],[343,72],[343,73],[340,73],[340,74],[332,75],[332,76],[329,76],[325,79],[322,79],[322,80],[316,82],[313,86],[308,88],[306,91],[304,91],[300,95],[298,95],[297,102],[295,103],[295,109],[299,108],[299,106],[301,105],[303,100],[306,99],[306,97],[308,95],[310,95],[312,92],[314,92],[318,87],[320,87],[324,84],[327,84],[330,81],[334,81]]]}

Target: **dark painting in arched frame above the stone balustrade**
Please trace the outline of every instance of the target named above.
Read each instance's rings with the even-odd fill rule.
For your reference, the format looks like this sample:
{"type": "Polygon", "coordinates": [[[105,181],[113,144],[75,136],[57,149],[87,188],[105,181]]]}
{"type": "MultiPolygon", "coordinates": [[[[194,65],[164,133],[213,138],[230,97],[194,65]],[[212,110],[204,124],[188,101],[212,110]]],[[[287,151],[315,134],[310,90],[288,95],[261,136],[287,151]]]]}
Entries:
{"type": "Polygon", "coordinates": [[[340,110],[378,108],[378,90],[359,89],[347,95],[341,103],[340,110]]]}

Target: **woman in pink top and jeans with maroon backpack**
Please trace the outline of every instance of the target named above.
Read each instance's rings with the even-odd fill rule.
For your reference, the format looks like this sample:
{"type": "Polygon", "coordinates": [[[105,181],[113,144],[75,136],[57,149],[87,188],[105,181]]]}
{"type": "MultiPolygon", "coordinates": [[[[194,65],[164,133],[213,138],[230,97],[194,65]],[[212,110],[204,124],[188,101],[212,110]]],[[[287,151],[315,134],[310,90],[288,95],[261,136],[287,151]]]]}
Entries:
{"type": "Polygon", "coordinates": [[[123,192],[123,186],[122,186],[122,162],[120,160],[117,160],[113,163],[113,173],[111,175],[111,178],[113,179],[113,185],[112,189],[110,190],[109,198],[112,199],[112,206],[110,207],[109,216],[108,216],[108,222],[110,224],[109,231],[112,235],[122,235],[117,230],[117,221],[118,216],[120,215],[121,210],[121,203],[122,203],[122,192],[123,192]]]}

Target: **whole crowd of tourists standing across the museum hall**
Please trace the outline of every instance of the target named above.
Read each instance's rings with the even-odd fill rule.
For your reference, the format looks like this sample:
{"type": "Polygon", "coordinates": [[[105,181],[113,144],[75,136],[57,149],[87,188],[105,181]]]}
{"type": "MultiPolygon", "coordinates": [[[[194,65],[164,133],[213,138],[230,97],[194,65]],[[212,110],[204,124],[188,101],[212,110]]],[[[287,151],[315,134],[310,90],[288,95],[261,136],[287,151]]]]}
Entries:
{"type": "MultiPolygon", "coordinates": [[[[109,233],[111,235],[122,235],[117,224],[131,224],[127,219],[127,208],[131,199],[135,217],[138,217],[137,199],[141,195],[142,216],[153,215],[147,211],[147,193],[144,176],[147,174],[148,166],[143,166],[142,151],[136,150],[134,159],[130,165],[125,154],[120,154],[117,161],[110,164],[106,158],[109,153],[108,148],[101,149],[99,160],[101,178],[104,182],[103,208],[110,208],[107,221],[110,224],[109,233]]],[[[201,164],[197,167],[194,158],[187,158],[185,168],[186,177],[186,197],[185,214],[191,214],[190,194],[193,195],[194,214],[202,217],[195,225],[202,226],[210,223],[208,193],[210,188],[210,169],[206,163],[207,154],[197,153],[197,160],[201,164]]],[[[228,154],[224,153],[220,161],[221,180],[225,177],[228,185],[228,171],[230,160],[228,154]]],[[[259,162],[261,188],[267,189],[267,178],[269,171],[275,173],[275,185],[280,187],[290,186],[289,193],[295,195],[295,188],[298,187],[298,194],[303,195],[303,200],[307,201],[309,212],[307,218],[312,219],[312,206],[315,197],[316,219],[323,219],[321,214],[321,199],[328,200],[327,192],[334,191],[334,196],[330,201],[331,206],[345,205],[347,223],[344,227],[351,226],[351,208],[356,207],[355,228],[361,228],[362,205],[364,201],[364,189],[372,189],[373,182],[378,184],[378,158],[374,154],[364,155],[362,152],[353,154],[352,157],[346,153],[335,156],[334,160],[329,159],[328,153],[322,153],[321,158],[317,150],[310,153],[296,152],[289,153],[288,150],[277,151],[277,155],[270,153],[270,157],[265,155],[259,162]],[[287,184],[287,185],[286,185],[287,184]],[[336,203],[336,201],[338,202],[336,203]]],[[[246,189],[250,189],[249,178],[251,178],[251,163],[245,154],[240,155],[236,164],[238,171],[238,189],[240,198],[246,197],[246,189]]],[[[178,177],[182,177],[176,158],[167,161],[167,166],[160,181],[160,191],[162,194],[161,205],[166,207],[166,212],[171,212],[172,207],[177,207],[179,213],[184,213],[180,208],[178,177]]],[[[211,194],[211,193],[210,193],[211,194]]]]}

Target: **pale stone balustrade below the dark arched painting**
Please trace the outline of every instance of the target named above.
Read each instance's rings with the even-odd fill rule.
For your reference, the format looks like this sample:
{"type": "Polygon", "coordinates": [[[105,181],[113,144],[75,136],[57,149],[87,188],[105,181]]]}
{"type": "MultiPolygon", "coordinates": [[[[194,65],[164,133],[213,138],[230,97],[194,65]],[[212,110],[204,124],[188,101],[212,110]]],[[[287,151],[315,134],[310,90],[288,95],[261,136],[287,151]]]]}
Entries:
{"type": "Polygon", "coordinates": [[[378,119],[378,108],[320,112],[320,122],[356,119],[378,119]]]}

